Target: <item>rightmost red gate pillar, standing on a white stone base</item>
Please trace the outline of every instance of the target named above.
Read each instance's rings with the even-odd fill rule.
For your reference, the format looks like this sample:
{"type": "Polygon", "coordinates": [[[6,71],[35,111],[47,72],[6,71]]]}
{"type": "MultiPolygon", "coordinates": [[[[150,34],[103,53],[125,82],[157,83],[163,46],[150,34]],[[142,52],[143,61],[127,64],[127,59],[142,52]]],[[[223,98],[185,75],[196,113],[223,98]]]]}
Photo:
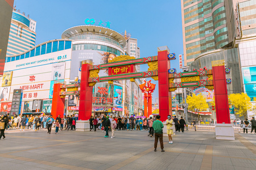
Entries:
{"type": "Polygon", "coordinates": [[[217,124],[222,124],[223,122],[230,124],[225,66],[214,66],[212,71],[217,124]]]}

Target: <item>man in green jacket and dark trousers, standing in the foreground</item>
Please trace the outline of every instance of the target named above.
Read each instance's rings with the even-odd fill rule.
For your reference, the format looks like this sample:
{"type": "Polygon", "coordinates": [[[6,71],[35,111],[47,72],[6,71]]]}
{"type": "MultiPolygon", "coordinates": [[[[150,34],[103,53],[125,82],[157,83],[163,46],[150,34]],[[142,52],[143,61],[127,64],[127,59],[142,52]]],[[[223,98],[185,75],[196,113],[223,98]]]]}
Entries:
{"type": "Polygon", "coordinates": [[[157,115],[156,116],[156,121],[153,122],[153,128],[155,130],[155,152],[156,152],[156,148],[158,147],[158,138],[159,138],[159,142],[160,142],[160,146],[161,146],[161,149],[162,151],[161,152],[164,152],[163,150],[163,123],[160,121],[160,116],[157,115]]]}

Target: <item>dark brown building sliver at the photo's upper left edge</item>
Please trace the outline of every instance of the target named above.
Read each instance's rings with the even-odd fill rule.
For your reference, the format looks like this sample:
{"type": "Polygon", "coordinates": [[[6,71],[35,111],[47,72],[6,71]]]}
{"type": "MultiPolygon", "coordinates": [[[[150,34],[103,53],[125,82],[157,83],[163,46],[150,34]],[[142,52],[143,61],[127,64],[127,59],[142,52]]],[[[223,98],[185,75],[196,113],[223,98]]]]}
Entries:
{"type": "Polygon", "coordinates": [[[14,0],[0,0],[0,75],[3,75],[14,0]]]}

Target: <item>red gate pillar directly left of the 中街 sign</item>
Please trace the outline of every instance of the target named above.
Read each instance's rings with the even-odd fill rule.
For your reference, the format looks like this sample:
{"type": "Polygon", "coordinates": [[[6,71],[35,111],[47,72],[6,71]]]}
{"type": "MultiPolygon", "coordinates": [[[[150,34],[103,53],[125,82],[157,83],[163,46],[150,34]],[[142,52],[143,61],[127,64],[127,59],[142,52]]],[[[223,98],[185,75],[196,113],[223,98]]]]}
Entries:
{"type": "Polygon", "coordinates": [[[82,64],[80,83],[79,120],[89,120],[92,116],[93,86],[89,86],[89,63],[82,64]]]}

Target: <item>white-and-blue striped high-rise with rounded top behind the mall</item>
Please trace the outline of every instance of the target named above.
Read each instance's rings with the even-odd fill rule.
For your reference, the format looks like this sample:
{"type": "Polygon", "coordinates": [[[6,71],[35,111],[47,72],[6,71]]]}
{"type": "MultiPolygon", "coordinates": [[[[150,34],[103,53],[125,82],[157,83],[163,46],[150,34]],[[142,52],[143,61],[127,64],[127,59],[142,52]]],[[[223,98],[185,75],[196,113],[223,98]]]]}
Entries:
{"type": "Polygon", "coordinates": [[[35,46],[36,22],[14,8],[6,56],[23,53],[35,46]]]}

